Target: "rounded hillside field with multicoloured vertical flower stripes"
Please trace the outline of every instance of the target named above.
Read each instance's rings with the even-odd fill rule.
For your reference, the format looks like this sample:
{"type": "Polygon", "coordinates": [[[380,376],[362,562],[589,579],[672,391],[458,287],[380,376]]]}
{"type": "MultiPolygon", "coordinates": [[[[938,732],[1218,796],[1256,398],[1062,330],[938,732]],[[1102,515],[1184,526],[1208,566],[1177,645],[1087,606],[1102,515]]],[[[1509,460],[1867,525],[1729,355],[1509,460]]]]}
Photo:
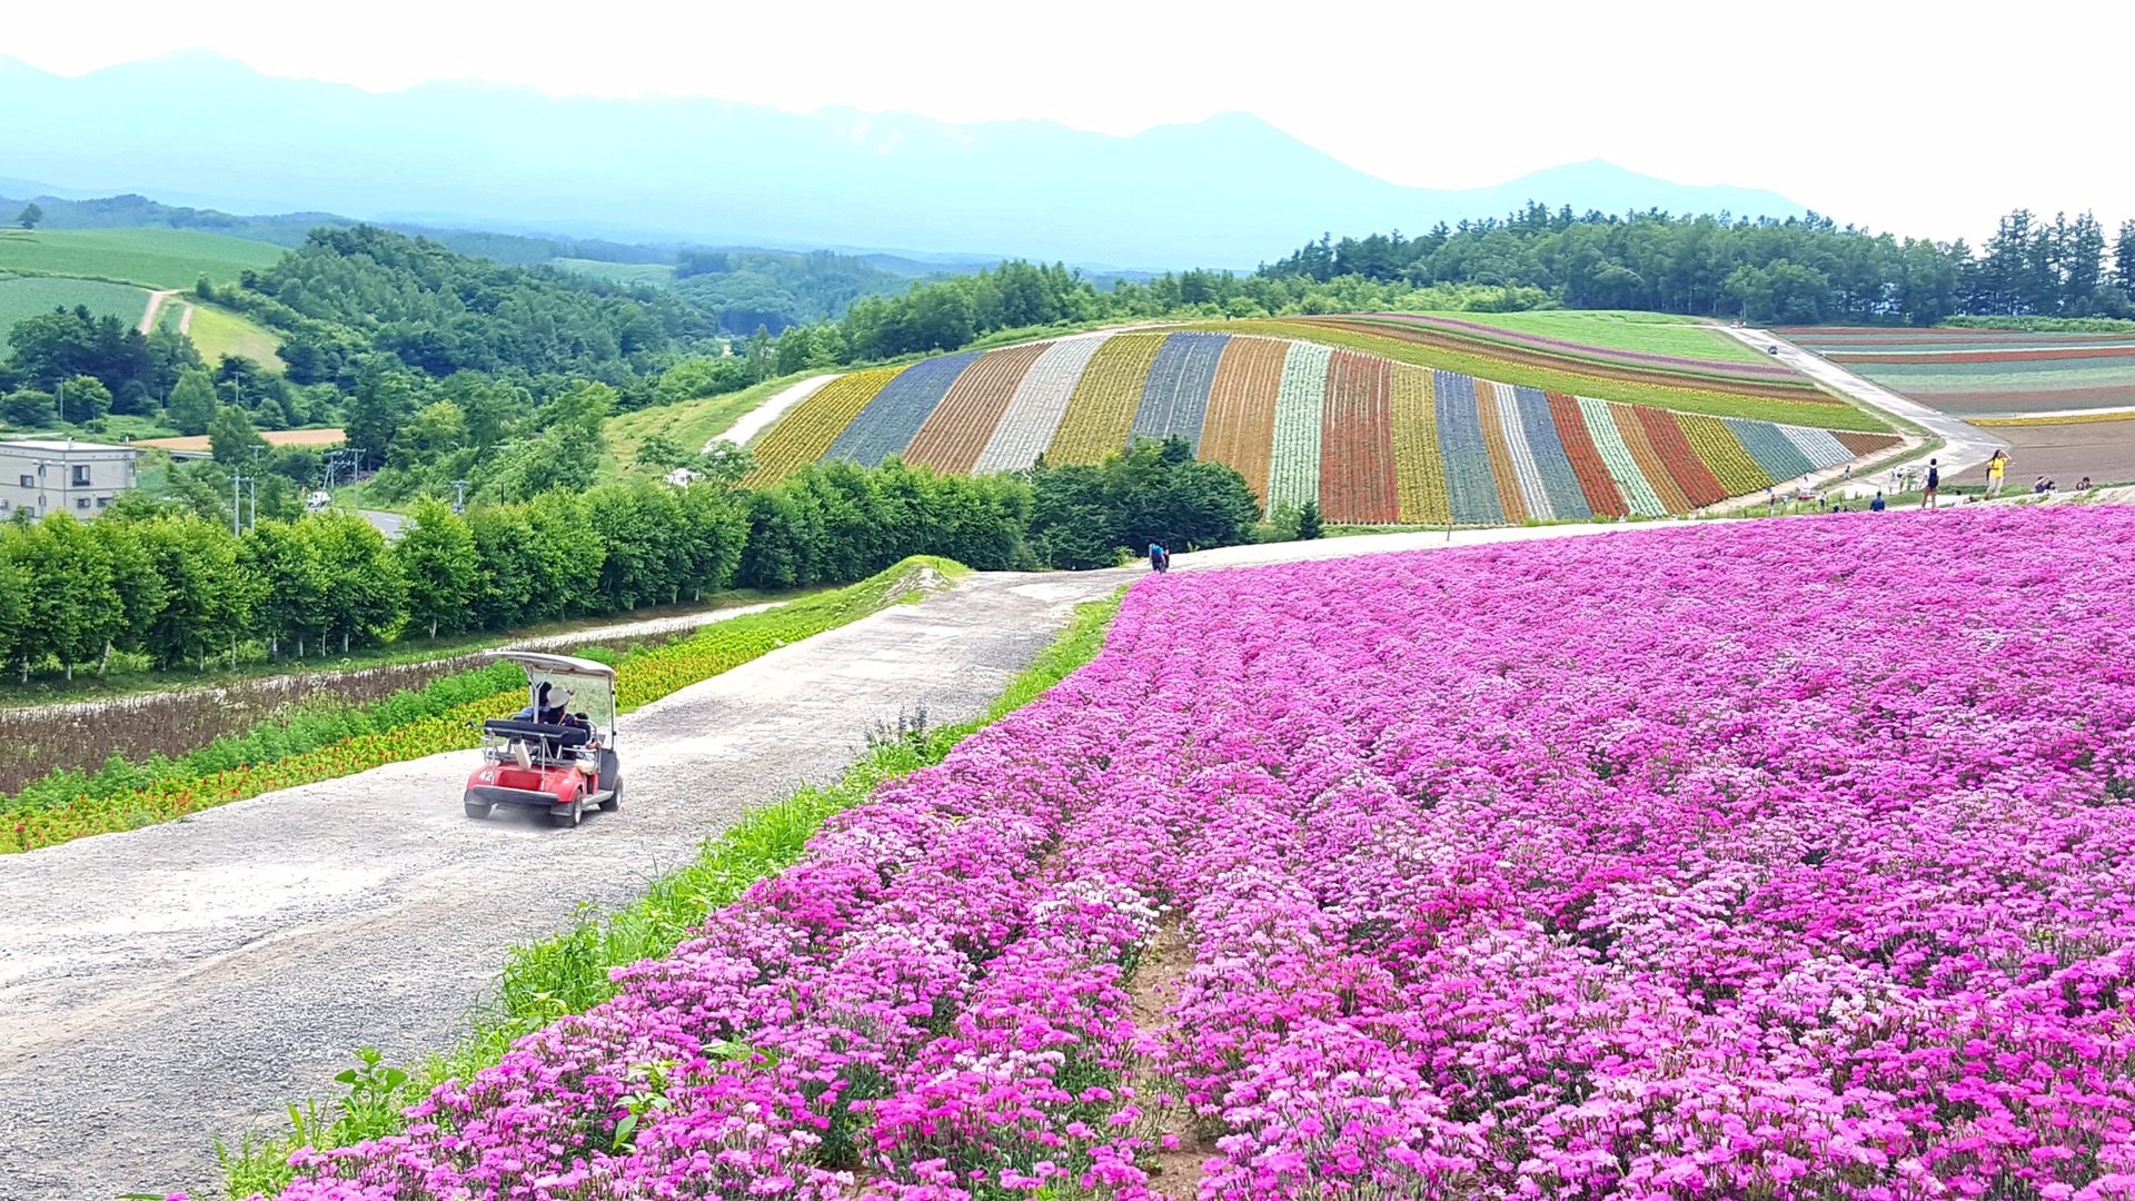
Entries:
{"type": "Polygon", "coordinates": [[[1418,359],[1437,350],[1351,325],[1095,333],[837,376],[754,444],[752,483],[886,455],[952,472],[1023,470],[1040,453],[1095,464],[1132,438],[1181,436],[1245,474],[1270,511],[1317,502],[1343,524],[1520,524],[1691,513],[1898,442],[1774,363],[1640,359],[1623,383],[1593,363],[1580,365],[1603,374],[1450,357],[1586,389],[1567,393],[1426,370],[1418,359]],[[1704,391],[1687,376],[1655,387],[1663,370],[1695,372],[1704,391]],[[1652,397],[1704,397],[1721,415],[1652,397]]]}

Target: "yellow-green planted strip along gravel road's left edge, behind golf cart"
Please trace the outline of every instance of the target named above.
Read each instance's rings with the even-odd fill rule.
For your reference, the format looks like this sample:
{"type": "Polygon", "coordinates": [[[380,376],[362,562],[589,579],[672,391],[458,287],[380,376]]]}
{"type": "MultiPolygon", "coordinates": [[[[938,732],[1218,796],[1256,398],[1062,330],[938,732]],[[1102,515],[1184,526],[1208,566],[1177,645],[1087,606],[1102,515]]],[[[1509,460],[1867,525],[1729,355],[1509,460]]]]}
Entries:
{"type": "MultiPolygon", "coordinates": [[[[956,577],[965,571],[916,556],[850,588],[626,654],[617,665],[617,703],[623,712],[634,709],[888,605],[916,603],[927,594],[929,573],[956,577]]],[[[493,667],[483,667],[361,709],[342,705],[260,722],[179,759],[156,754],[145,763],[113,761],[90,776],[58,774],[0,804],[0,853],[139,829],[260,793],[463,750],[478,742],[472,722],[523,701],[523,686],[506,688],[493,667]]]]}

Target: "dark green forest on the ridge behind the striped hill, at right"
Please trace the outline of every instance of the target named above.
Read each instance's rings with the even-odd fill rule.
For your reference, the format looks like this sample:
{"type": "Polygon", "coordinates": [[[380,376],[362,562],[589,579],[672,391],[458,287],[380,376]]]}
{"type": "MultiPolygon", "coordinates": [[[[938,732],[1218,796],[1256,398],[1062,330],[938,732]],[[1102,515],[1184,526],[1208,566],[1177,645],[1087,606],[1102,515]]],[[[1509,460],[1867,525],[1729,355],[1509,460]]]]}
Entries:
{"type": "Polygon", "coordinates": [[[1815,325],[1945,316],[2135,316],[2135,220],[2107,246],[2090,216],[2018,209],[1979,254],[1872,235],[1810,214],[1729,220],[1659,212],[1573,216],[1529,205],[1422,237],[1322,237],[1262,278],[1539,288],[1567,308],[1640,308],[1815,325]]]}

